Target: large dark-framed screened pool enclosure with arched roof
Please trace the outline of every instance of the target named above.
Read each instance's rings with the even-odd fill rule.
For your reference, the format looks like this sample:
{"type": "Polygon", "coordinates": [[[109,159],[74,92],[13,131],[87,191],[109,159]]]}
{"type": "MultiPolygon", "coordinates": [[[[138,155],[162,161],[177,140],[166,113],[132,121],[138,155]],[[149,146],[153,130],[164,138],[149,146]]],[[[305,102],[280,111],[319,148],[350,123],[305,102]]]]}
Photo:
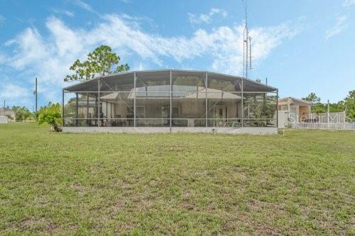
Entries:
{"type": "Polygon", "coordinates": [[[277,93],[265,84],[213,72],[111,74],[63,89],[63,130],[277,128],[277,93]]]}

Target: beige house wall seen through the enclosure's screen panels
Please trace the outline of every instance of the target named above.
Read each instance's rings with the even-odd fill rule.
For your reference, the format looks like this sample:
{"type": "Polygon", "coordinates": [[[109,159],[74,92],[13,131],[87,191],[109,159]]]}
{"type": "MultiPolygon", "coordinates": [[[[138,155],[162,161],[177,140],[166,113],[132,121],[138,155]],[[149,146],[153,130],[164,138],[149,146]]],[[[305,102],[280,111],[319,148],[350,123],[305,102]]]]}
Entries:
{"type": "MultiPolygon", "coordinates": [[[[130,111],[130,108],[128,107],[129,105],[132,106],[133,109],[133,103],[132,101],[102,101],[102,113],[104,114],[104,118],[107,118],[103,121],[102,125],[106,126],[108,125],[109,118],[121,118],[122,120],[115,120],[111,122],[123,122],[126,123],[124,126],[128,126],[129,123],[127,122],[133,122],[133,116],[127,117],[128,113],[131,113],[133,115],[133,111],[130,111]],[[111,113],[112,112],[112,113],[111,113]],[[130,119],[130,121],[126,120],[127,118],[130,119]]],[[[222,103],[219,103],[217,105],[217,100],[216,101],[209,101],[208,104],[209,107],[209,117],[208,118],[214,118],[215,116],[212,115],[214,112],[219,112],[219,108],[224,109],[224,118],[228,119],[236,119],[236,118],[241,118],[241,101],[223,101],[222,103]],[[214,109],[217,108],[217,109],[214,109]],[[226,113],[225,113],[226,111],[226,113]]],[[[148,122],[149,125],[161,125],[169,123],[168,119],[170,119],[170,99],[140,99],[136,101],[136,107],[137,107],[137,125],[141,124],[142,122],[148,122]],[[166,108],[166,111],[162,108],[166,108]],[[160,120],[161,118],[165,117],[165,120],[160,120]],[[140,119],[140,118],[144,118],[140,119]]],[[[96,118],[95,113],[95,108],[91,107],[89,108],[88,111],[88,116],[87,116],[87,108],[79,108],[78,109],[79,117],[80,118],[96,118]]],[[[186,120],[186,119],[191,119],[195,120],[192,121],[194,124],[193,125],[203,125],[205,124],[204,118],[205,118],[205,113],[206,113],[206,104],[205,101],[202,99],[173,99],[173,117],[175,120],[186,120]],[[177,109],[178,108],[178,111],[177,109]],[[178,116],[177,116],[178,114],[178,116]],[[199,119],[199,120],[196,120],[199,119]]],[[[189,120],[189,122],[191,122],[189,120]]],[[[227,120],[224,120],[226,122],[227,120]]],[[[91,125],[96,125],[97,121],[95,119],[90,120],[91,125]]],[[[209,121],[210,122],[210,121],[209,121]]]]}

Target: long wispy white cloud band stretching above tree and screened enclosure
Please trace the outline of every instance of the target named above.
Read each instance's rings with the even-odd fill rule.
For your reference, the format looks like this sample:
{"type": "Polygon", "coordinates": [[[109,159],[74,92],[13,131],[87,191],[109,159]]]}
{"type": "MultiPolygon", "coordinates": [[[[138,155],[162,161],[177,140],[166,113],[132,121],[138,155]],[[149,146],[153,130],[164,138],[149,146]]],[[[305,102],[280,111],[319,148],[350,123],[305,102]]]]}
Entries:
{"type": "MultiPolygon", "coordinates": [[[[134,19],[117,15],[104,16],[102,23],[88,30],[70,28],[55,17],[48,18],[45,26],[49,36],[44,37],[35,28],[27,28],[8,41],[6,45],[13,48],[13,53],[2,58],[7,67],[26,72],[23,78],[38,77],[40,93],[48,101],[60,101],[59,94],[65,86],[63,78],[70,73],[72,62],[84,59],[88,52],[102,44],[119,52],[124,63],[125,58],[135,58],[132,69],[147,69],[152,63],[166,67],[165,58],[180,64],[207,59],[204,69],[229,74],[239,74],[242,68],[244,27],[241,25],[199,29],[190,37],[146,33],[134,19]]],[[[253,62],[267,57],[273,48],[295,33],[297,30],[290,23],[251,28],[253,62]]]]}

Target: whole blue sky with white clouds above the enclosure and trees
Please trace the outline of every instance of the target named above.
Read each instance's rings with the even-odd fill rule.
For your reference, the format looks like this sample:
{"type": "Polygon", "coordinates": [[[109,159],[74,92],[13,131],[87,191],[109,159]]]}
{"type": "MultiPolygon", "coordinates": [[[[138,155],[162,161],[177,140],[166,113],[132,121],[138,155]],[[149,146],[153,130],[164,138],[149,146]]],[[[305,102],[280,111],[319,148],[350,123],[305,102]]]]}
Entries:
{"type": "MultiPolygon", "coordinates": [[[[99,45],[131,70],[242,75],[244,22],[242,0],[0,0],[0,101],[33,110],[37,77],[38,106],[60,102],[99,45]]],[[[323,102],[355,89],[355,0],[249,0],[248,23],[250,79],[323,102]]]]}

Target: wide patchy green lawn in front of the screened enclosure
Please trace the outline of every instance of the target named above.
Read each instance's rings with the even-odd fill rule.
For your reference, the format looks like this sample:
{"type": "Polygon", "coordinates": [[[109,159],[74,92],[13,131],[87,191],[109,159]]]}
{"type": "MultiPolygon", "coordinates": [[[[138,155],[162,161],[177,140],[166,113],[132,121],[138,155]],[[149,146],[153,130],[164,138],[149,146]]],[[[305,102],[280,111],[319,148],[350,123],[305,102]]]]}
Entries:
{"type": "Polygon", "coordinates": [[[0,125],[0,234],[355,234],[355,133],[0,125]]]}

